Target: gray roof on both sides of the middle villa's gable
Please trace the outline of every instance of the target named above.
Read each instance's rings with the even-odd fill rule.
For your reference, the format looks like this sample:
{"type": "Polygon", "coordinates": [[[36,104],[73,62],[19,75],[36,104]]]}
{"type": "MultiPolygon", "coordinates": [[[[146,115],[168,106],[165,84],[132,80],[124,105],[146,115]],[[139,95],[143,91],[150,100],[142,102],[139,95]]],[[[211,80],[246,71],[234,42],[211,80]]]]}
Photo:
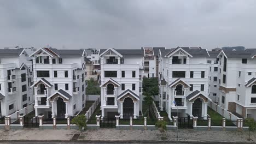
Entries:
{"type": "MultiPolygon", "coordinates": [[[[98,55],[101,55],[107,49],[100,49],[98,55]]],[[[144,50],[142,49],[114,49],[124,57],[144,57],[144,50]]]]}

